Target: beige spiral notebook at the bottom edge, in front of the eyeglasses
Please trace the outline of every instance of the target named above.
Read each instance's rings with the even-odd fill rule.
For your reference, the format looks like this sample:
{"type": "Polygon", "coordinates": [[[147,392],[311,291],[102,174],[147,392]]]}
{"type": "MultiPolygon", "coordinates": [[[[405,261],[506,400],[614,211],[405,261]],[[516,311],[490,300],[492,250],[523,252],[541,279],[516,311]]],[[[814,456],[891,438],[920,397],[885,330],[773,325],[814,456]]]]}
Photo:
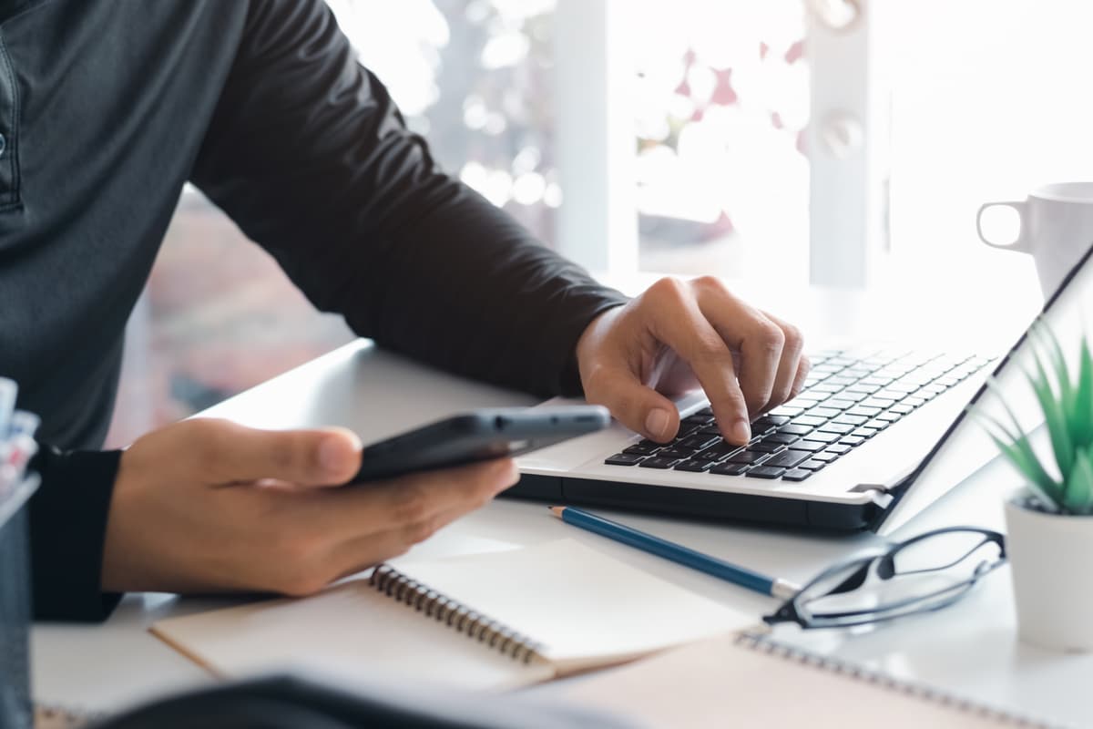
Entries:
{"type": "Polygon", "coordinates": [[[564,686],[578,704],[648,727],[991,729],[1056,726],[741,632],[564,686]]]}

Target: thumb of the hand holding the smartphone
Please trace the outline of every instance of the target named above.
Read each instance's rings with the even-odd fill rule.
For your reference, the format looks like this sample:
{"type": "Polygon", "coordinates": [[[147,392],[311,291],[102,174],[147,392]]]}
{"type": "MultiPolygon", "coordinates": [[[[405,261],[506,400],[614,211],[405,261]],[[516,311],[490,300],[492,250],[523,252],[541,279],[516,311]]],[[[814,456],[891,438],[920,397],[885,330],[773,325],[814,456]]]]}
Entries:
{"type": "Polygon", "coordinates": [[[361,439],[352,431],[261,431],[216,420],[193,420],[207,472],[216,483],[277,479],[305,485],[341,484],[361,468],[361,439]]]}

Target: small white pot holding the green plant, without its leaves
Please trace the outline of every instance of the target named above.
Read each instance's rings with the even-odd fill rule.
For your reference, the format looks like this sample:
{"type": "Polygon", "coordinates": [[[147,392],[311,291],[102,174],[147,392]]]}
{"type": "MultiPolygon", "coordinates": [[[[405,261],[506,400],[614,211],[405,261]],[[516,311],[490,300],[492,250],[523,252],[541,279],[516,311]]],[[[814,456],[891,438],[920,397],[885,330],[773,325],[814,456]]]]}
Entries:
{"type": "Polygon", "coordinates": [[[1021,639],[1050,650],[1093,650],[1093,516],[1006,503],[1006,553],[1021,639]]]}

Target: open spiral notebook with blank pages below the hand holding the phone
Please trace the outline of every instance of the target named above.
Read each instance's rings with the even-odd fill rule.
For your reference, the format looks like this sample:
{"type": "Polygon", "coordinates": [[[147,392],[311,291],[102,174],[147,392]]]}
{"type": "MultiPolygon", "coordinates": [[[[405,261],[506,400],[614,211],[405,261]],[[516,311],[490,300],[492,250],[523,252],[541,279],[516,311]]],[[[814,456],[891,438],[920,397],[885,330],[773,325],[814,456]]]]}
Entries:
{"type": "Polygon", "coordinates": [[[171,618],[152,632],[223,675],[315,666],[470,689],[527,685],[754,618],[574,540],[383,565],[317,596],[171,618]]]}

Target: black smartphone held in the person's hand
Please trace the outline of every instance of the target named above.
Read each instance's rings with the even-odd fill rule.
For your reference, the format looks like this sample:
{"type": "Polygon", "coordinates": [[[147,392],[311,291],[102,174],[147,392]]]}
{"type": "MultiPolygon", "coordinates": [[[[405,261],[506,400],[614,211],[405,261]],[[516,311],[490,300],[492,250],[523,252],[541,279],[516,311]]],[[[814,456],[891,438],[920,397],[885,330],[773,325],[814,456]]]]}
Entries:
{"type": "Polygon", "coordinates": [[[352,483],[519,456],[610,423],[600,405],[472,410],[365,446],[352,483]]]}

